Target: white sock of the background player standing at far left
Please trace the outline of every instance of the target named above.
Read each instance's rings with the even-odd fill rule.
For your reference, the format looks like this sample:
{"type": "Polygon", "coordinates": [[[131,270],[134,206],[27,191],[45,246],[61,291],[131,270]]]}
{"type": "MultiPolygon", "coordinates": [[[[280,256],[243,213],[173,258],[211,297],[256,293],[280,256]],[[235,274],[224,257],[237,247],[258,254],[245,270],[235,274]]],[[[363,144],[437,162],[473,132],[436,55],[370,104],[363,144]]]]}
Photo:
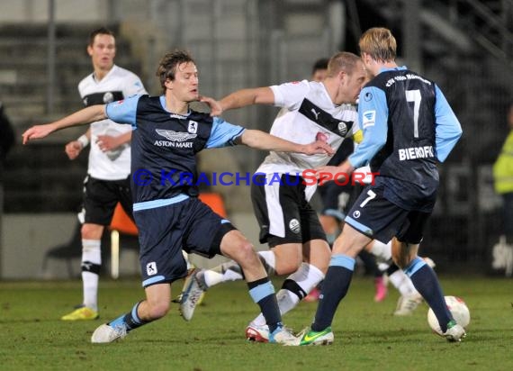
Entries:
{"type": "MultiPolygon", "coordinates": [[[[102,265],[101,240],[82,240],[82,266],[91,263],[97,267],[102,265]]],[[[84,290],[84,305],[98,311],[98,273],[88,270],[82,271],[82,284],[84,290]]]]}

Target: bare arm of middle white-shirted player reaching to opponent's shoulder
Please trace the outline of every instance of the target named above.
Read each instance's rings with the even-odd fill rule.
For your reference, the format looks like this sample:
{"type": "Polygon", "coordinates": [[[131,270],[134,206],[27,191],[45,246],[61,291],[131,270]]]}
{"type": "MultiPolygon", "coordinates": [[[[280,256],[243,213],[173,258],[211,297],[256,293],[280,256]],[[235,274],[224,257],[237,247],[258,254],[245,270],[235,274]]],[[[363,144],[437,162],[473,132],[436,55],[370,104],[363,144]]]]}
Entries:
{"type": "Polygon", "coordinates": [[[250,104],[275,104],[275,94],[270,87],[265,86],[241,89],[226,95],[220,101],[216,101],[208,96],[202,96],[200,101],[210,105],[211,116],[219,116],[224,111],[245,107],[250,104]]]}

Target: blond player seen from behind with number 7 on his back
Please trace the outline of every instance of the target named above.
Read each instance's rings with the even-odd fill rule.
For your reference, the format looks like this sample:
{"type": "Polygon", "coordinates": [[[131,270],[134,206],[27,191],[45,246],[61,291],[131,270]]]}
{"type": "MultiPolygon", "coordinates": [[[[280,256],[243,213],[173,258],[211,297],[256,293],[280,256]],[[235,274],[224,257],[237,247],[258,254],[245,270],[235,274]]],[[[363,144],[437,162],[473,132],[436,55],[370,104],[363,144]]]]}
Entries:
{"type": "Polygon", "coordinates": [[[465,330],[447,309],[433,269],[417,255],[424,226],[437,198],[437,162],[443,162],[462,135],[440,88],[395,63],[390,30],[372,28],[359,41],[365,68],[374,78],[362,89],[358,107],[364,140],[338,167],[320,172],[351,173],[370,162],[375,177],[356,200],[335,241],[315,320],[298,345],[331,344],[331,323],[346,296],[355,258],[371,240],[392,240],[392,258],[437,316],[444,336],[460,341],[465,330]]]}

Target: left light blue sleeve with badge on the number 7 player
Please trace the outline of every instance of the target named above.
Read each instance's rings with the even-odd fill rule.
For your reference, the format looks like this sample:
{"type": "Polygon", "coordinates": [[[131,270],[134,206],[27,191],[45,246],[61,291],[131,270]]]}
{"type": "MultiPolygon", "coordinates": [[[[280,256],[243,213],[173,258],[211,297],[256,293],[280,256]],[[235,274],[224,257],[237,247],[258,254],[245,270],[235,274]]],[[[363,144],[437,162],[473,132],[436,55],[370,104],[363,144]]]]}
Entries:
{"type": "Polygon", "coordinates": [[[383,90],[374,86],[362,90],[358,104],[358,122],[361,122],[364,139],[349,156],[353,167],[368,163],[386,143],[388,107],[383,90]]]}

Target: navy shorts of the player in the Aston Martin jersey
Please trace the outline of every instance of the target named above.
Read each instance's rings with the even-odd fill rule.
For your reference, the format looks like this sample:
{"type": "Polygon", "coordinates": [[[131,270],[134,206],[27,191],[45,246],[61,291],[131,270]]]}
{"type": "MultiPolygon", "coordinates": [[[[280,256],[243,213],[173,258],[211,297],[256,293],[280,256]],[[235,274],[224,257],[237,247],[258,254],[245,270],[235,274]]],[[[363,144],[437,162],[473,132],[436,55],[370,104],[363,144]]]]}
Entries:
{"type": "Polygon", "coordinates": [[[142,285],[172,283],[187,275],[182,254],[220,254],[220,241],[235,229],[197,198],[134,213],[139,229],[142,285]]]}

